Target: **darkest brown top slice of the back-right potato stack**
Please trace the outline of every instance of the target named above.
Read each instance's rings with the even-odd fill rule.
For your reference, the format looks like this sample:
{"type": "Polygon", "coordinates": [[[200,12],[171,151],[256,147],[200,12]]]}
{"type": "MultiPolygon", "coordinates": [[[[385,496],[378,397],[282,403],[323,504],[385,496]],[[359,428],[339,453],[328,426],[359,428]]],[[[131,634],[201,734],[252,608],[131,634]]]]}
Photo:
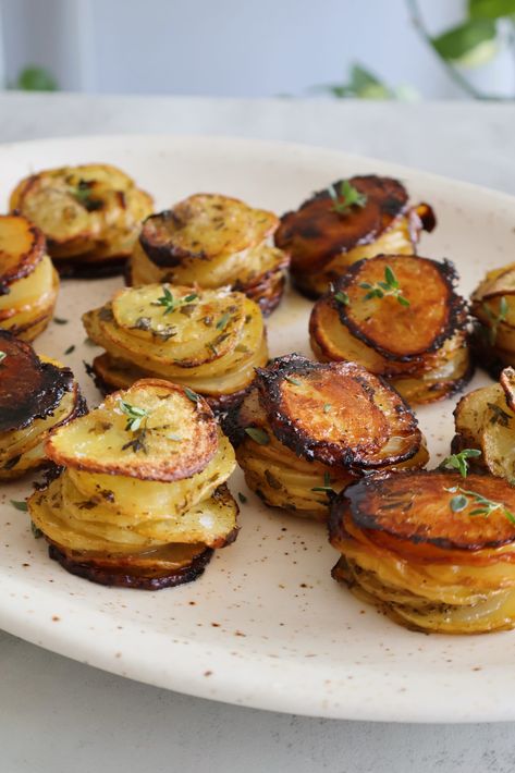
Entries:
{"type": "MultiPolygon", "coordinates": [[[[339,180],[329,187],[338,193],[342,182],[339,180]]],[[[297,211],[282,217],[275,244],[291,251],[294,271],[318,271],[335,255],[373,242],[407,207],[407,192],[397,180],[364,175],[352,177],[350,183],[367,197],[364,207],[354,206],[339,213],[326,188],[297,211]]]]}

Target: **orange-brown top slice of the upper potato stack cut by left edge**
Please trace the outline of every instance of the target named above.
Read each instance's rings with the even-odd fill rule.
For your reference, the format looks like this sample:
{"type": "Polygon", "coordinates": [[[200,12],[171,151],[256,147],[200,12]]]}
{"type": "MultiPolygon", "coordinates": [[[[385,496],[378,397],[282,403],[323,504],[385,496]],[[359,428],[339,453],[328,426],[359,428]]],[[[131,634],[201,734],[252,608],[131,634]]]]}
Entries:
{"type": "Polygon", "coordinates": [[[45,255],[45,236],[26,218],[0,216],[0,295],[32,273],[45,255]]]}

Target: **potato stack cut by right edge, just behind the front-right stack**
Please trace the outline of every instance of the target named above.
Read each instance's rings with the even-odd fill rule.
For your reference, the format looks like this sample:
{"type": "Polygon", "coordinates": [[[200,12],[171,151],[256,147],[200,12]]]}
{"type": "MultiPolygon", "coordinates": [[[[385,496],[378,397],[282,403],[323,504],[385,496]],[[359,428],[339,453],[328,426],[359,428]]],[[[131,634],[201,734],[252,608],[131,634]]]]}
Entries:
{"type": "Polygon", "coordinates": [[[466,394],[454,410],[453,451],[476,449],[476,469],[515,480],[515,370],[504,368],[500,383],[466,394]]]}

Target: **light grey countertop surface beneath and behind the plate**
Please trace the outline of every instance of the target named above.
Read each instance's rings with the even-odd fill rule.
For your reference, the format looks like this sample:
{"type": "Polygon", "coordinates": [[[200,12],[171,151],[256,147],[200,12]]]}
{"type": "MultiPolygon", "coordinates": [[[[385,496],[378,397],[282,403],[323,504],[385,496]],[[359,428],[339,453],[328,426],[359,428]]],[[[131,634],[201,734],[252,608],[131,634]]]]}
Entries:
{"type": "MultiPolygon", "coordinates": [[[[375,156],[515,194],[515,106],[0,95],[0,140],[223,134],[375,156]]],[[[0,770],[507,773],[515,727],[339,722],[105,674],[0,631],[0,770]]]]}

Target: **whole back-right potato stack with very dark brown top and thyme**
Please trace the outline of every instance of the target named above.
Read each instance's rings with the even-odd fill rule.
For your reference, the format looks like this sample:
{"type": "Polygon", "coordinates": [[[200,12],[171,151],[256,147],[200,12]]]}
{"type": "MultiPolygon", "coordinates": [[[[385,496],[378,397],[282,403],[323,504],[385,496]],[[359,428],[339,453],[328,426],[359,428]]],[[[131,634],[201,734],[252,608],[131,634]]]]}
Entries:
{"type": "Polygon", "coordinates": [[[363,258],[412,255],[422,229],[436,225],[431,208],[408,204],[405,187],[377,175],[339,180],[281,219],[275,244],[292,257],[295,286],[318,298],[363,258]]]}

